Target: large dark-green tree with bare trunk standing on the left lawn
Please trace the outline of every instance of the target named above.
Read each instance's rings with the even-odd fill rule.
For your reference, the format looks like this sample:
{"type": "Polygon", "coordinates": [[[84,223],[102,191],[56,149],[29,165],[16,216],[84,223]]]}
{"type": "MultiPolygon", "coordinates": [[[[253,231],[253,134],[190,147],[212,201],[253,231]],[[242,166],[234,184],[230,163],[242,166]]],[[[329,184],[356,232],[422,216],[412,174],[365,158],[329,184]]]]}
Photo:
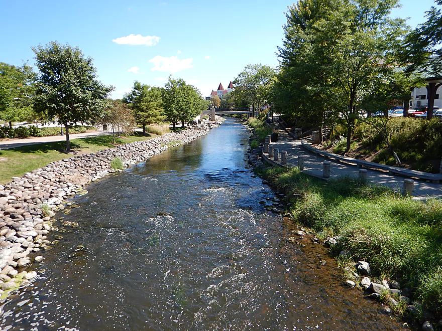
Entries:
{"type": "Polygon", "coordinates": [[[78,47],[50,42],[32,50],[40,70],[34,107],[64,125],[70,152],[69,127],[76,122],[95,122],[114,88],[98,81],[92,58],[85,58],[78,47]]]}

